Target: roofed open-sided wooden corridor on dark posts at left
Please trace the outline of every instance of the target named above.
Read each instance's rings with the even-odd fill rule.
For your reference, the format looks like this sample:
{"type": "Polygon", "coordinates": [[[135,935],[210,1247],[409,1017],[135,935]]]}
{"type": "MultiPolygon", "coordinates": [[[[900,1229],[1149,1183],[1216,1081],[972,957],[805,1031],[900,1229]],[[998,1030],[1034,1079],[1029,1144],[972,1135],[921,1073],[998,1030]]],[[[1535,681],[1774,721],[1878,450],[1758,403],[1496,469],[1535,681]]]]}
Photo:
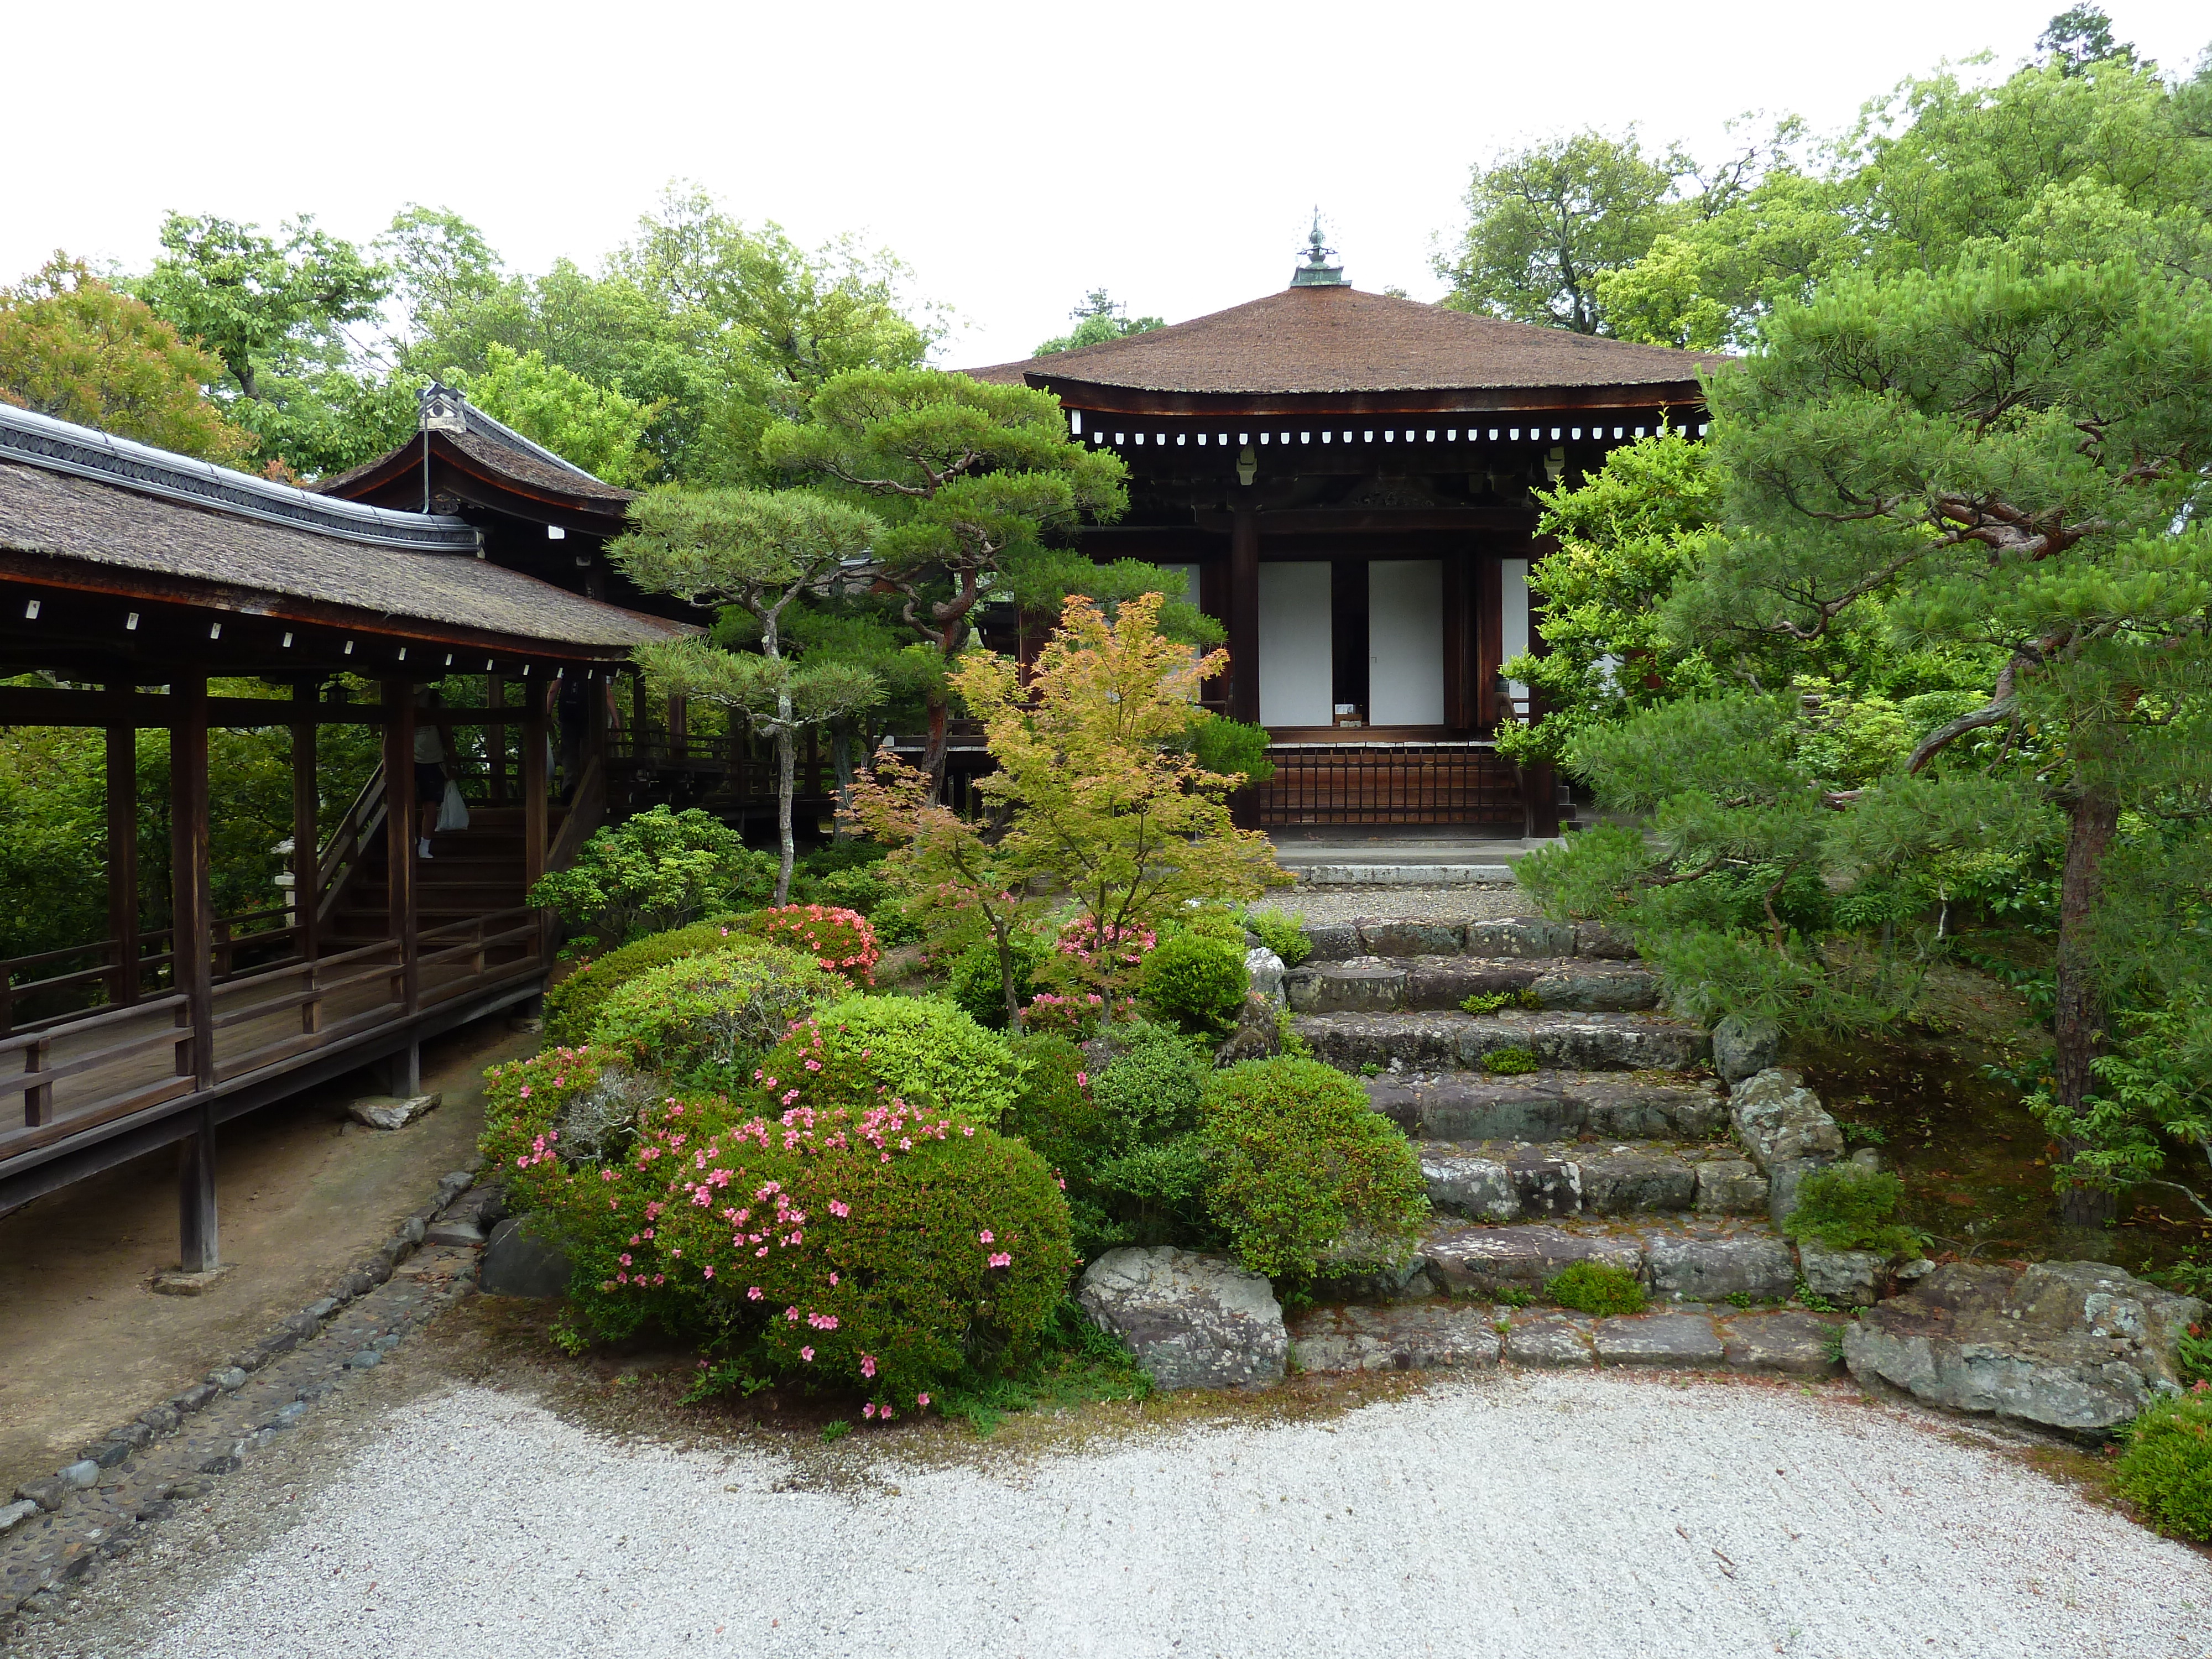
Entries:
{"type": "Polygon", "coordinates": [[[619,604],[624,491],[451,394],[422,427],[310,493],[0,405],[0,726],[102,732],[108,783],[104,936],[0,960],[0,1212],[175,1146],[184,1267],[215,1267],[219,1124],[361,1066],[409,1091],[425,1037],[544,989],[524,891],[606,810],[617,666],[692,624],[619,604]],[[292,770],[285,900],[232,916],[223,728],[288,732],[292,770]],[[422,818],[440,752],[467,830],[422,818]]]}

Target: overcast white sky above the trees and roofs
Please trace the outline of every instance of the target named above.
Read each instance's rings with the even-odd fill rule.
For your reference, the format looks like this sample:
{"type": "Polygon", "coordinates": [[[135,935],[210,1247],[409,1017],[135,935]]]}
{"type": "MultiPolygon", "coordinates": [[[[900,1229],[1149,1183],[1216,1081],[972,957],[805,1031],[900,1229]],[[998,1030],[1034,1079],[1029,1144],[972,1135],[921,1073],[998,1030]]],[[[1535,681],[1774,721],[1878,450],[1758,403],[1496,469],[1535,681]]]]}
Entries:
{"type": "MultiPolygon", "coordinates": [[[[1743,111],[1818,128],[1944,58],[2008,69],[2064,0],[1117,0],[13,9],[0,281],[53,248],[144,265],[166,208],[376,234],[403,201],[511,268],[586,265],[668,179],[803,241],[894,248],[1026,356],[1088,288],[1168,321],[1281,288],[1318,201],[1360,288],[1427,250],[1502,146],[1637,124],[1701,155],[1743,111]]],[[[2203,0],[2110,0],[2168,69],[2203,0]]]]}

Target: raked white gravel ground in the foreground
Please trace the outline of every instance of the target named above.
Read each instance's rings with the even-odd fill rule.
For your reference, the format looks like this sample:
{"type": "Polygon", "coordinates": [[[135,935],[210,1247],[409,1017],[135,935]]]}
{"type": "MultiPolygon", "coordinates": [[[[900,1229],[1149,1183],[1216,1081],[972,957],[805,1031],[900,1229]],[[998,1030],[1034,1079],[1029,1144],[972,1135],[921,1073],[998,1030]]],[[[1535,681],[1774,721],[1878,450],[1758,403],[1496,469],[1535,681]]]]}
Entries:
{"type": "MultiPolygon", "coordinates": [[[[2203,1659],[2212,1566],[1947,1425],[1624,1376],[776,1491],[460,1387],[150,1652],[2203,1659]]],[[[852,1444],[852,1442],[847,1442],[852,1444]]]]}

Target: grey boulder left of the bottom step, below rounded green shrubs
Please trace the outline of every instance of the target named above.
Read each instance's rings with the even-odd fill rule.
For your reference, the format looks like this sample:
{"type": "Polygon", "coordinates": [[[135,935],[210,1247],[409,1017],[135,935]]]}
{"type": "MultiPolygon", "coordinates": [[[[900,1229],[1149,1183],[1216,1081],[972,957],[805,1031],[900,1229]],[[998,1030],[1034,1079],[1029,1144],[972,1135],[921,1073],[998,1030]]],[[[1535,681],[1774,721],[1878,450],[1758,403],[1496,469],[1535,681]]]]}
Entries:
{"type": "Polygon", "coordinates": [[[1283,1307],[1254,1272],[1172,1245],[1108,1250],[1075,1292],[1164,1389],[1276,1383],[1290,1356],[1283,1307]]]}

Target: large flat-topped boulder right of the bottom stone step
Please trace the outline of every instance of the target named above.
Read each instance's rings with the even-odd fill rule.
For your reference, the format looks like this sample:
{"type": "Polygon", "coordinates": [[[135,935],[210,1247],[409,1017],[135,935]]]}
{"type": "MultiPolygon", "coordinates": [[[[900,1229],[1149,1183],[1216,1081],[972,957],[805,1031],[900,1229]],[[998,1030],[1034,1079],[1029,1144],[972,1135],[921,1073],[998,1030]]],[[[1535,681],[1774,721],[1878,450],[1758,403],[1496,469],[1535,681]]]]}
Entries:
{"type": "Polygon", "coordinates": [[[2104,1438],[2181,1385],[2174,1345],[2203,1316],[2101,1261],[1947,1263],[1847,1325],[1843,1358],[1929,1405],[2104,1438]]]}

